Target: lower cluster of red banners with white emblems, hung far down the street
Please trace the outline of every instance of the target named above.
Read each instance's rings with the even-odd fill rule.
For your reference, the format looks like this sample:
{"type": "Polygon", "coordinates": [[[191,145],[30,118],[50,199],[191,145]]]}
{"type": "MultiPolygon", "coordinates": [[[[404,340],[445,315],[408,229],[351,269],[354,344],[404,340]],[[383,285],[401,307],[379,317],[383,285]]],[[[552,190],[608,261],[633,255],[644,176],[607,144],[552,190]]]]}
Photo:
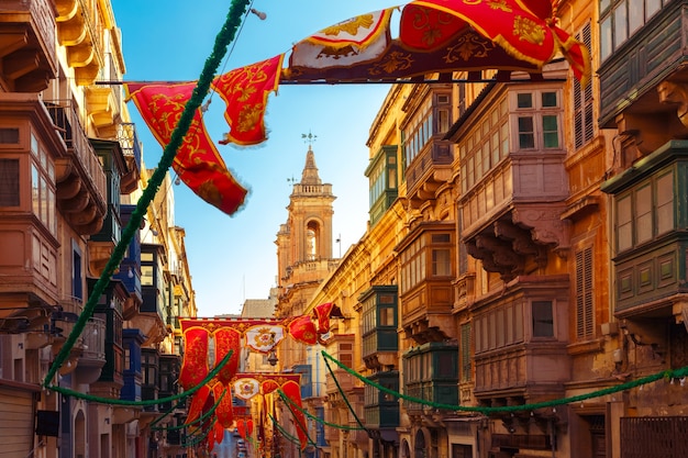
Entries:
{"type": "MultiPolygon", "coordinates": [[[[214,437],[215,442],[220,442],[218,438],[221,429],[231,427],[234,421],[236,421],[238,433],[242,436],[246,433],[248,418],[246,416],[234,417],[232,394],[245,401],[263,395],[265,403],[265,395],[281,390],[296,405],[300,406],[300,375],[237,373],[240,350],[242,347],[248,347],[255,351],[269,353],[288,336],[297,342],[314,345],[321,340],[323,334],[329,332],[330,319],[334,316],[342,316],[340,309],[333,303],[325,303],[315,308],[313,314],[285,320],[180,320],[186,351],[178,382],[185,390],[200,383],[208,376],[210,368],[215,367],[232,351],[230,360],[222,370],[191,398],[187,424],[215,406],[217,422],[210,438],[214,437]],[[211,348],[214,348],[212,361],[211,348]]],[[[289,409],[295,417],[301,446],[306,447],[308,437],[303,413],[293,406],[289,409]]],[[[264,425],[259,426],[264,431],[264,425]]]]}

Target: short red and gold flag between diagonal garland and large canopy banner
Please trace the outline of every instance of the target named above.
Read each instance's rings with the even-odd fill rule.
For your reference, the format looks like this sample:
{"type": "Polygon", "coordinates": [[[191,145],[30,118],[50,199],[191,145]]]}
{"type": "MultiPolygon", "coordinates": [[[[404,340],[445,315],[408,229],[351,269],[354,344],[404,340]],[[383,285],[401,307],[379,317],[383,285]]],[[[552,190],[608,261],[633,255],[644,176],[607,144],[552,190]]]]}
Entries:
{"type": "Polygon", "coordinates": [[[257,145],[267,139],[265,109],[267,97],[277,91],[284,54],[217,77],[211,87],[225,101],[224,119],[230,132],[220,143],[257,145]]]}

